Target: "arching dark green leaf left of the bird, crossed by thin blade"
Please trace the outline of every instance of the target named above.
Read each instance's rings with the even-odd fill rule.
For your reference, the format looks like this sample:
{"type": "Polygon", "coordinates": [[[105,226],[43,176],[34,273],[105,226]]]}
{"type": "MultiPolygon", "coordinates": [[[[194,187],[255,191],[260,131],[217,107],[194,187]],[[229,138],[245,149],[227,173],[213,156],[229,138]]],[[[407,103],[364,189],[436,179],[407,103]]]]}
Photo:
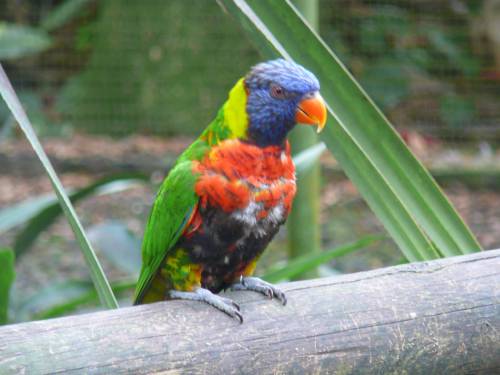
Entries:
{"type": "MultiPolygon", "coordinates": [[[[147,181],[147,179],[147,176],[141,173],[125,173],[107,176],[71,193],[69,199],[72,203],[76,203],[91,195],[101,194],[103,192],[121,191],[124,188],[134,186],[137,182],[147,181]]],[[[61,205],[55,200],[52,204],[46,206],[43,210],[38,212],[36,216],[31,218],[28,225],[16,236],[14,251],[17,257],[19,258],[29,250],[40,233],[51,226],[62,213],[63,210],[61,205]]],[[[0,215],[1,214],[2,212],[0,212],[0,215]]]]}

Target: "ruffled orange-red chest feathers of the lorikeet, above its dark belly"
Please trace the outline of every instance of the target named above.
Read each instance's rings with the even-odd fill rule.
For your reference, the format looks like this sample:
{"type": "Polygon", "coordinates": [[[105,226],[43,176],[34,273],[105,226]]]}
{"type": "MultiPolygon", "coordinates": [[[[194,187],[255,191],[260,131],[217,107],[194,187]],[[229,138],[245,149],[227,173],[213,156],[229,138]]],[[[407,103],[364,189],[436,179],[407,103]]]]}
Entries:
{"type": "Polygon", "coordinates": [[[194,164],[202,208],[223,211],[248,227],[280,223],[295,195],[295,167],[288,142],[284,147],[257,147],[227,140],[194,164]]]}

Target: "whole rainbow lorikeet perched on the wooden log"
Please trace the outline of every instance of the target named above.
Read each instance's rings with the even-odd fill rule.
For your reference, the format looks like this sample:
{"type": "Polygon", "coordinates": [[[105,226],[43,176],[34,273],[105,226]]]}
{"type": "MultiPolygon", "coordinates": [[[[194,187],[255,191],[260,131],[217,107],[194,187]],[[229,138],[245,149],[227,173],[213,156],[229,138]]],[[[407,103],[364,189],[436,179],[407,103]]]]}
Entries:
{"type": "Polygon", "coordinates": [[[326,122],[316,77],[283,59],[254,66],[215,120],[179,157],[154,202],[134,304],[206,302],[243,321],[222,290],[253,290],[286,304],[251,277],[290,212],[295,166],[286,139],[296,123],[326,122]]]}

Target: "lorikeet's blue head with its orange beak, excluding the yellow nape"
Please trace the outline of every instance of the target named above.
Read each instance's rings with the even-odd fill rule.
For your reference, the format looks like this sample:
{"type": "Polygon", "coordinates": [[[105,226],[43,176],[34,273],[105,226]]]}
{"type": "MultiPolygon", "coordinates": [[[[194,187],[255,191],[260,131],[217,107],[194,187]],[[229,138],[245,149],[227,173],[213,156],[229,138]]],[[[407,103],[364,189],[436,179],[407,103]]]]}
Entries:
{"type": "Polygon", "coordinates": [[[326,121],[316,77],[293,62],[278,59],[254,66],[245,77],[248,138],[259,146],[282,145],[297,122],[326,121]]]}

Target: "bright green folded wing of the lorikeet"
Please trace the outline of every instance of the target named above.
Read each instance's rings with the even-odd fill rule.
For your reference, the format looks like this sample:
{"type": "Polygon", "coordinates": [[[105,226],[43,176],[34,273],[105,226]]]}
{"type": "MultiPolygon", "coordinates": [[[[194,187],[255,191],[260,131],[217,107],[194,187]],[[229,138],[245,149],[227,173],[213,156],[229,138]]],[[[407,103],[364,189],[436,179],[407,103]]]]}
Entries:
{"type": "Polygon", "coordinates": [[[163,259],[184,232],[198,202],[195,182],[192,162],[186,157],[179,159],[163,181],[144,232],[142,269],[134,304],[141,303],[163,259]]]}

